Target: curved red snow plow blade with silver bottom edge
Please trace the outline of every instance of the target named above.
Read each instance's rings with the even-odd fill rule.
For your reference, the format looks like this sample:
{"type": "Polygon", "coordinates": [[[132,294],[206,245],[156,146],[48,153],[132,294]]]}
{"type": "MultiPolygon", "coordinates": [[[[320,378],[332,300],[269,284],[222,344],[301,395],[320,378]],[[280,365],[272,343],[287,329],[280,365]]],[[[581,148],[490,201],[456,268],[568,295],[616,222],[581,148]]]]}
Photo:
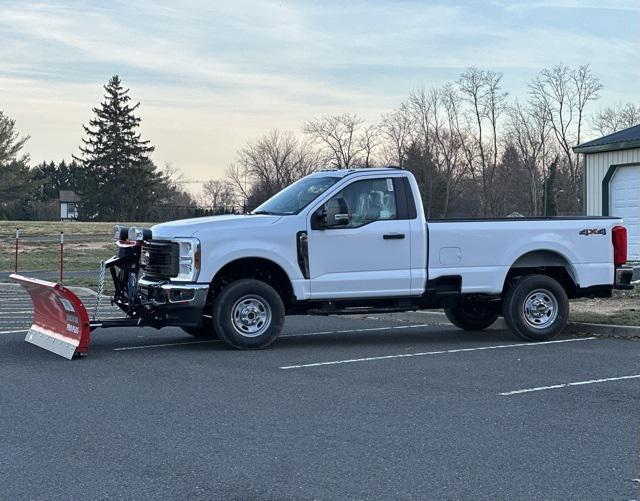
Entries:
{"type": "Polygon", "coordinates": [[[12,274],[31,296],[33,325],[25,341],[71,360],[86,355],[91,328],[82,301],[63,285],[12,274]]]}

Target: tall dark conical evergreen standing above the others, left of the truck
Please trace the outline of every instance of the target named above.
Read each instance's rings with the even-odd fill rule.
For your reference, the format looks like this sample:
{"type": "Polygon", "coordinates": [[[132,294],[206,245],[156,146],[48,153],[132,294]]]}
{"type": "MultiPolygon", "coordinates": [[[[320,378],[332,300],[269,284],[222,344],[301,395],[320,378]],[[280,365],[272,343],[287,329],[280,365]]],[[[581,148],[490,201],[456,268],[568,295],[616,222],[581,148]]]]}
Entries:
{"type": "Polygon", "coordinates": [[[138,132],[140,103],[131,103],[118,75],[104,89],[95,116],[83,125],[81,155],[74,157],[82,171],[80,214],[83,219],[136,220],[147,212],[162,175],[149,159],[154,147],[138,132]]]}

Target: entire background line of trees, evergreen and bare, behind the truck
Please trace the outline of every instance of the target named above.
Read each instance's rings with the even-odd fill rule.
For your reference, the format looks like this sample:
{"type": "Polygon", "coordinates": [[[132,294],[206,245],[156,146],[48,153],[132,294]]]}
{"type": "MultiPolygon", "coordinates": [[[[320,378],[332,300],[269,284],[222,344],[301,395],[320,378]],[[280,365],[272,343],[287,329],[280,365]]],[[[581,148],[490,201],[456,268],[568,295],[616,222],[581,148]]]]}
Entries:
{"type": "Polygon", "coordinates": [[[23,152],[29,138],[0,111],[0,218],[56,219],[51,200],[60,190],[79,195],[83,220],[244,212],[321,168],[388,165],[415,175],[429,218],[578,214],[583,172],[572,147],[586,129],[605,135],[640,123],[632,103],[591,111],[602,84],[588,65],[543,69],[524,101],[510,97],[501,73],[468,68],[455,81],[413,90],[377,123],[343,113],[312,118],[297,133],[269,131],[192,197],[176,169],[152,162],[129,89],[117,75],[104,89],[68,162],[32,166],[23,152]]]}

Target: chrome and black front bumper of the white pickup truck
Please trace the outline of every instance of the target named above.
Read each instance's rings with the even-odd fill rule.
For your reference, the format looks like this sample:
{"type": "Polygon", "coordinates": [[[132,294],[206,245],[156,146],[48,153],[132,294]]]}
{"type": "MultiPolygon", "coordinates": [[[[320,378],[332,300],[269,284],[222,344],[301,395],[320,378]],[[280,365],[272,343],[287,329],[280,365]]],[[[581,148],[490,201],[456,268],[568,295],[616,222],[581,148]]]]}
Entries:
{"type": "Polygon", "coordinates": [[[199,327],[209,298],[209,284],[176,284],[141,278],[143,301],[164,325],[199,327]]]}

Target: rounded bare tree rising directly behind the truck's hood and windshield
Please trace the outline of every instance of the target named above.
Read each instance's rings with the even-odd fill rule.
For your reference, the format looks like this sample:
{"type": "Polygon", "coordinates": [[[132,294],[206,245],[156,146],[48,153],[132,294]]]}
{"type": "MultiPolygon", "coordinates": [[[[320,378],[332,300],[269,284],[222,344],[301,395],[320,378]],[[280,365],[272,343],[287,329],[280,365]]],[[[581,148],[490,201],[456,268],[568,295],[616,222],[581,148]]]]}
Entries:
{"type": "Polygon", "coordinates": [[[227,171],[235,198],[256,205],[319,167],[317,151],[291,132],[273,130],[248,143],[227,171]]]}

